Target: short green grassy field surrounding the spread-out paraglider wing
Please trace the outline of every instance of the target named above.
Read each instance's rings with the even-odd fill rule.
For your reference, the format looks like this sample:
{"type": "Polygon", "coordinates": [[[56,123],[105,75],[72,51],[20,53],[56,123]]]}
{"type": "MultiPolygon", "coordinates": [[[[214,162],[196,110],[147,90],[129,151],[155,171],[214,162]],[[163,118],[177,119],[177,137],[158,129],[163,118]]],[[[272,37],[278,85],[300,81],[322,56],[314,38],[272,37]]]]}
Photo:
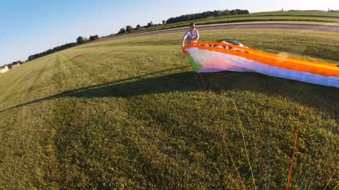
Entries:
{"type": "MultiPolygon", "coordinates": [[[[285,189],[298,115],[291,189],[323,189],[339,89],[237,72],[203,74],[203,89],[181,38],[86,44],[0,75],[0,189],[285,189]]],[[[338,33],[201,31],[221,40],[339,63],[338,33]]]]}

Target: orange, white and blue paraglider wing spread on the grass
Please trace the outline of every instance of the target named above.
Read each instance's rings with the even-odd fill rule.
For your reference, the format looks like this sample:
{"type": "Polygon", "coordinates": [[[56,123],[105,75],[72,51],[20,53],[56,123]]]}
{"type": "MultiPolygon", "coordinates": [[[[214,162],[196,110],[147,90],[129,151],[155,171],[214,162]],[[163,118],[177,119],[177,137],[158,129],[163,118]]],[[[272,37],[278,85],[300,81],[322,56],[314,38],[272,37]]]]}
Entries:
{"type": "Polygon", "coordinates": [[[192,43],[182,49],[195,72],[258,72],[263,75],[339,88],[339,68],[224,43],[192,43]]]}

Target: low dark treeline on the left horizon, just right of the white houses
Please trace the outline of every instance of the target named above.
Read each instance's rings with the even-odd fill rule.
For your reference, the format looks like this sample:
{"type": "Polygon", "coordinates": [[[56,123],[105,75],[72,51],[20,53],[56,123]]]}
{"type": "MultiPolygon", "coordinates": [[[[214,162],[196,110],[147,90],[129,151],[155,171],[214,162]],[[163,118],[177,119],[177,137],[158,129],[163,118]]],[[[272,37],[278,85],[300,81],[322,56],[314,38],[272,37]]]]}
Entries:
{"type": "Polygon", "coordinates": [[[99,39],[99,36],[98,35],[95,35],[95,36],[90,36],[90,39],[87,39],[86,37],[78,37],[76,39],[76,42],[72,42],[72,43],[69,43],[69,44],[64,44],[64,45],[61,45],[61,46],[57,46],[57,47],[54,47],[53,49],[49,49],[47,51],[44,51],[42,53],[36,53],[32,56],[29,56],[28,57],[28,61],[32,61],[33,59],[36,59],[36,58],[40,58],[42,56],[47,56],[51,53],[55,53],[57,51],[62,51],[64,49],[69,49],[73,46],[78,46],[79,44],[84,44],[84,43],[87,43],[87,42],[90,42],[90,41],[93,41],[93,40],[96,40],[96,39],[99,39]]]}

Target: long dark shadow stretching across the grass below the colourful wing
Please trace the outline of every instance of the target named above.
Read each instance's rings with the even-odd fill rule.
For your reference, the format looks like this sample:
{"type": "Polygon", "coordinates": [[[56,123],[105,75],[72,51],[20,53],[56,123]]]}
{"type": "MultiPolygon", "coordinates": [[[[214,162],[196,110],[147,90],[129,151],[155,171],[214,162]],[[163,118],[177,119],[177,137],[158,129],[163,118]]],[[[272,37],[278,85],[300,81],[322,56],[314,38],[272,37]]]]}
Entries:
{"type": "MultiPolygon", "coordinates": [[[[160,77],[152,75],[168,72],[171,70],[182,70],[174,68],[152,72],[138,77],[129,77],[124,80],[116,80],[97,84],[90,87],[82,87],[60,94],[47,96],[42,99],[22,103],[5,110],[27,106],[40,101],[48,101],[61,97],[81,97],[81,98],[102,98],[102,97],[124,97],[138,96],[143,94],[159,94],[170,91],[198,91],[203,88],[200,77],[195,72],[180,72],[160,77]]],[[[202,73],[203,84],[208,91],[255,91],[271,96],[282,96],[290,101],[295,101],[301,105],[321,108],[336,114],[339,112],[339,103],[336,101],[339,96],[339,89],[323,87],[315,84],[307,84],[292,80],[285,80],[276,77],[269,77],[258,73],[240,72],[214,72],[202,73]]]]}

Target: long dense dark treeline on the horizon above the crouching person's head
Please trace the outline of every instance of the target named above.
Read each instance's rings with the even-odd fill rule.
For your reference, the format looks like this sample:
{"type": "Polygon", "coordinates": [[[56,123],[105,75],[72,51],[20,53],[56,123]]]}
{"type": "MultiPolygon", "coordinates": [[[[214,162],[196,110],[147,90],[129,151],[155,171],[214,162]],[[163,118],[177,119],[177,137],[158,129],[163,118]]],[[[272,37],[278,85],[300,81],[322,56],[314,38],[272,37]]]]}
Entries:
{"type": "Polygon", "coordinates": [[[203,13],[181,15],[181,16],[178,16],[176,18],[169,18],[169,19],[166,20],[166,24],[179,23],[179,22],[202,19],[202,18],[218,17],[218,16],[222,16],[222,15],[243,15],[243,14],[249,14],[249,11],[241,10],[241,9],[235,9],[235,10],[232,10],[232,11],[230,11],[230,10],[206,11],[206,12],[203,12],[203,13]]]}

